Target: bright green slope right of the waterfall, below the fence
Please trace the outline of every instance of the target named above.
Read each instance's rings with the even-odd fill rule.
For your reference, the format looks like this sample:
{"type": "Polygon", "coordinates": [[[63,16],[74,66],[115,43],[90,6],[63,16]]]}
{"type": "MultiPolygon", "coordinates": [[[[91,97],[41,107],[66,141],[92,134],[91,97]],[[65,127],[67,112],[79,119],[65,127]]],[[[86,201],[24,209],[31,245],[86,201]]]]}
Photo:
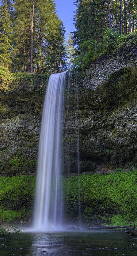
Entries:
{"type": "Polygon", "coordinates": [[[66,178],[65,211],[71,220],[78,218],[78,184],[81,217],[87,225],[128,225],[137,218],[136,172],[66,178]]]}

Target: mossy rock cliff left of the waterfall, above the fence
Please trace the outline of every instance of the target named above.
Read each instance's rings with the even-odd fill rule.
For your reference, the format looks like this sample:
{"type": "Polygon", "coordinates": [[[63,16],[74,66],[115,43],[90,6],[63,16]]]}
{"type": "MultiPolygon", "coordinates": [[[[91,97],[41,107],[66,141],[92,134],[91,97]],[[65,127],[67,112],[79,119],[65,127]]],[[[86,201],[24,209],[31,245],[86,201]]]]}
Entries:
{"type": "Polygon", "coordinates": [[[46,84],[45,76],[19,74],[0,94],[1,173],[35,172],[46,84]]]}

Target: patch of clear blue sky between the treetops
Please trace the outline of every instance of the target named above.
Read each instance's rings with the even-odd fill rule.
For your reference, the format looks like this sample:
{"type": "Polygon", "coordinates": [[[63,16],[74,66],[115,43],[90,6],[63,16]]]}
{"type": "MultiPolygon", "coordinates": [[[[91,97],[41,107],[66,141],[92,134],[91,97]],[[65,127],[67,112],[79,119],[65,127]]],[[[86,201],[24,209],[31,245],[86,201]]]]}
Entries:
{"type": "Polygon", "coordinates": [[[71,31],[75,31],[75,26],[73,25],[73,11],[76,10],[76,6],[73,3],[74,1],[75,0],[54,0],[58,17],[66,27],[66,39],[68,39],[68,35],[71,31]]]}

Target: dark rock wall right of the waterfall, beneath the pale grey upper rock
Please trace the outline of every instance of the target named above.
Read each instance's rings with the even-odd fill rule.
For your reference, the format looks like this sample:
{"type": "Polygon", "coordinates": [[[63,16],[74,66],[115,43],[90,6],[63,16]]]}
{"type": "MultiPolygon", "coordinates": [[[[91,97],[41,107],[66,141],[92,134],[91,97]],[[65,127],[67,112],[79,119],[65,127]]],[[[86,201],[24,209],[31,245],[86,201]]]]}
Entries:
{"type": "MultiPolygon", "coordinates": [[[[136,164],[136,78],[133,67],[113,72],[107,82],[95,90],[79,90],[80,167],[109,170],[136,164]]],[[[79,81],[81,84],[81,81],[79,81]]],[[[79,84],[79,88],[80,88],[79,84]]],[[[84,83],[83,83],[84,84],[84,83]]],[[[81,87],[83,86],[81,84],[81,87]]],[[[76,129],[74,109],[67,123],[68,165],[75,172],[76,129]]],[[[66,158],[67,159],[67,158],[66,158]]]]}

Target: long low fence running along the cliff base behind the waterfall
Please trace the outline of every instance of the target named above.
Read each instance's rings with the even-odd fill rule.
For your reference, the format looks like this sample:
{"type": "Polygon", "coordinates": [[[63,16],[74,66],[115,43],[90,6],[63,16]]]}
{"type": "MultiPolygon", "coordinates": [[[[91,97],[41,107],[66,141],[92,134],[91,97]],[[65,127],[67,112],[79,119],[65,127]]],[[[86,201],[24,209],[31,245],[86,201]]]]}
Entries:
{"type": "MultiPolygon", "coordinates": [[[[82,173],[62,173],[62,177],[68,178],[68,177],[73,177],[73,176],[78,176],[78,175],[92,175],[92,174],[110,174],[110,173],[120,173],[120,172],[132,172],[132,171],[137,171],[136,168],[132,169],[122,169],[122,170],[92,170],[90,172],[82,172],[82,173]]],[[[35,176],[36,173],[0,173],[0,177],[14,177],[14,176],[35,176]]]]}

